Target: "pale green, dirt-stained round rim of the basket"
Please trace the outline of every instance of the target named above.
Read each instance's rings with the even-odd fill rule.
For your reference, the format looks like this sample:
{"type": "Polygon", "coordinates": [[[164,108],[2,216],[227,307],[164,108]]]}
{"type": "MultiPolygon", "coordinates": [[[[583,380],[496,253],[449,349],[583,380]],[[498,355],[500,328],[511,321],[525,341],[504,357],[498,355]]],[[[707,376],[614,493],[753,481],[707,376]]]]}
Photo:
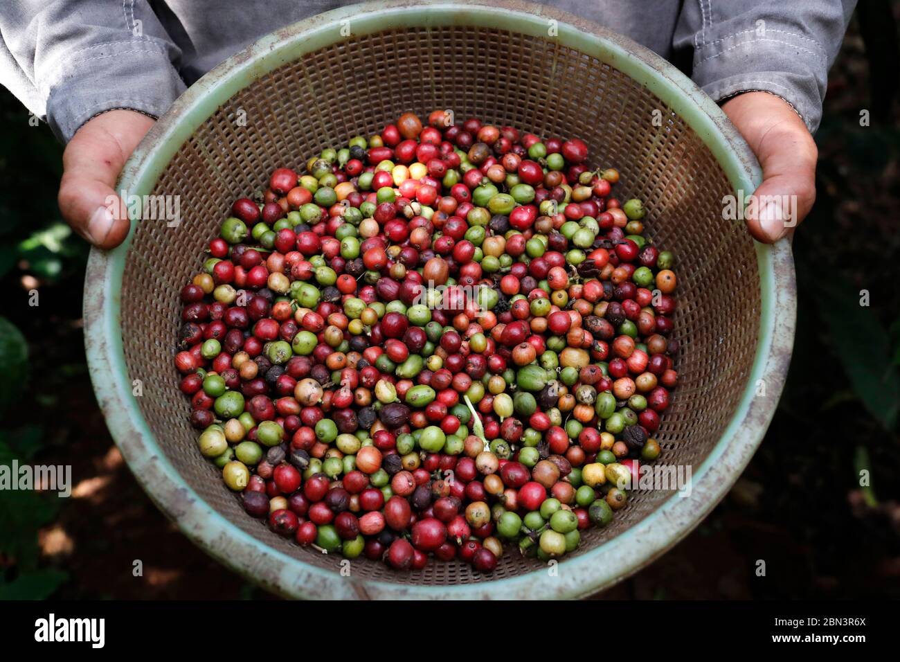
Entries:
{"type": "MultiPolygon", "coordinates": [[[[181,95],[148,131],[122,170],[119,189],[148,194],[166,164],[220,104],[268,71],[304,53],[354,34],[447,23],[496,27],[555,39],[607,62],[668,104],[713,152],[736,193],[752,192],[761,169],[747,143],[719,106],[688,77],[650,50],[597,23],[552,7],[519,0],[379,0],[341,7],[287,26],[226,59],[181,95]]],[[[139,484],[166,516],[202,549],[258,585],[287,597],[509,599],[572,598],[616,584],[650,564],[693,530],[725,496],[758,448],[784,386],[793,347],[797,287],[788,239],[754,241],[760,271],[760,335],[751,376],[722,437],[693,472],[687,498],[672,494],[643,520],[559,564],[556,576],[536,569],[470,585],[406,585],[341,576],[269,547],[240,530],[193,491],[166,458],[130,395],[121,342],[121,277],[134,236],[117,249],[92,249],[85,275],[85,350],[97,396],[113,440],[139,484]],[[765,379],[766,396],[755,385],[765,379]],[[615,550],[615,553],[610,553],[615,550]],[[602,561],[601,561],[602,559],[602,561]]],[[[339,562],[339,560],[338,560],[339,562]]]]}

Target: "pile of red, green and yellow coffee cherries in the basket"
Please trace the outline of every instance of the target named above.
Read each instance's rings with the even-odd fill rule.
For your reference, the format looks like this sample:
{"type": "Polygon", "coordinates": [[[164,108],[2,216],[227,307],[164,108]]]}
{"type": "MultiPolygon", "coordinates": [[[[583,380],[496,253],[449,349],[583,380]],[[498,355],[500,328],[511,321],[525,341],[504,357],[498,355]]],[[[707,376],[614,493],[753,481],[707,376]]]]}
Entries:
{"type": "Polygon", "coordinates": [[[436,111],[234,202],[175,366],[247,513],[397,569],[607,526],[678,381],[673,258],[618,178],[578,139],[436,111]]]}

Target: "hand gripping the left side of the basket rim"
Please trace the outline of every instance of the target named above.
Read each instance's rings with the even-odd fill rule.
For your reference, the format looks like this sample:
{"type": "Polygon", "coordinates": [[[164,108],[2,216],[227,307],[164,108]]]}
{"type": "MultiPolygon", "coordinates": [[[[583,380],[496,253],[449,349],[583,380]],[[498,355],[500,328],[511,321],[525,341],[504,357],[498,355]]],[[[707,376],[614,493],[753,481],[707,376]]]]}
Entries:
{"type": "Polygon", "coordinates": [[[130,110],[97,115],[82,125],[62,155],[58,203],[74,231],[101,249],[128,236],[130,222],[121,202],[110,204],[121,168],[154,120],[130,110]]]}

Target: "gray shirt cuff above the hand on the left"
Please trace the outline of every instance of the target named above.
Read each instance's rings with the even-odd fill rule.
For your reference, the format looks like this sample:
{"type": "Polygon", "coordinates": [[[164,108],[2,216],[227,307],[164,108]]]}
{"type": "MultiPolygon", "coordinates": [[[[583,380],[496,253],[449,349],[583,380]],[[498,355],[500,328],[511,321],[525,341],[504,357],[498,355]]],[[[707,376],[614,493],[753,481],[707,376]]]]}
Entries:
{"type": "Polygon", "coordinates": [[[69,62],[49,88],[47,121],[64,142],[99,113],[127,108],[159,117],[184,92],[166,47],[154,41],[109,44],[69,62]]]}

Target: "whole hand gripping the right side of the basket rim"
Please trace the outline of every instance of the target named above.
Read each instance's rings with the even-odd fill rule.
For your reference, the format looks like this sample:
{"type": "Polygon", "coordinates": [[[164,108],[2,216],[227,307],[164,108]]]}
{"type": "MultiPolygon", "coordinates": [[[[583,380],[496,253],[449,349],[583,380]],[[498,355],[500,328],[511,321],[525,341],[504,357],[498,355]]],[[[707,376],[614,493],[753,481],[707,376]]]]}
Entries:
{"type": "Polygon", "coordinates": [[[790,104],[768,92],[734,96],[722,110],[762,167],[747,227],[757,240],[773,243],[803,221],[815,202],[815,141],[790,104]]]}

